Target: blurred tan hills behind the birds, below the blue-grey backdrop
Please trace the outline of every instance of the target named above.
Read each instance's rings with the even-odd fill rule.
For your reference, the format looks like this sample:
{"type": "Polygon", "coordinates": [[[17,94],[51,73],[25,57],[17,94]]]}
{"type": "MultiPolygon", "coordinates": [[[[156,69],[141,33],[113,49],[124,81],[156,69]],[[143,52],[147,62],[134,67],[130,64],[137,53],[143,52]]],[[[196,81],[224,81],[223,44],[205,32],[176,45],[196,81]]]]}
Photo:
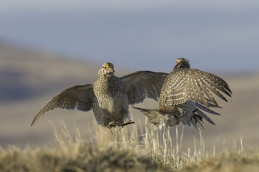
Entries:
{"type": "MultiPolygon", "coordinates": [[[[89,140],[89,136],[92,136],[89,128],[93,131],[92,111],[83,113],[54,110],[45,113],[33,127],[31,122],[40,108],[58,92],[70,85],[95,82],[97,71],[104,62],[107,61],[94,66],[67,60],[54,54],[0,44],[0,144],[2,146],[15,144],[21,147],[27,143],[55,146],[49,120],[54,121],[58,128],[60,118],[63,119],[70,133],[73,133],[75,119],[82,138],[89,140]]],[[[171,63],[174,66],[175,59],[171,63]]],[[[116,76],[119,77],[134,72],[130,68],[125,71],[117,66],[114,67],[116,76]]],[[[195,68],[194,65],[192,67],[195,68]]],[[[200,68],[200,70],[203,69],[200,68]]],[[[217,73],[214,74],[217,75],[217,73]]],[[[208,115],[216,125],[206,123],[209,131],[202,132],[206,148],[212,150],[215,145],[217,149],[221,149],[224,138],[226,138],[225,145],[231,147],[229,142],[233,144],[233,138],[239,142],[241,133],[244,136],[244,143],[249,146],[259,145],[257,132],[259,74],[222,76],[219,71],[218,75],[229,84],[233,97],[227,97],[228,103],[217,99],[223,108],[215,111],[222,114],[221,116],[208,115]]],[[[158,108],[158,103],[154,100],[145,100],[143,104],[138,104],[136,107],[158,108]]],[[[139,127],[138,121],[142,126],[145,125],[145,117],[140,111],[133,110],[133,120],[136,123],[130,127],[139,127]]],[[[178,128],[178,132],[181,133],[182,125],[178,128]]],[[[170,129],[170,132],[172,139],[175,139],[175,129],[170,129]]],[[[199,132],[195,128],[186,126],[183,134],[184,148],[188,148],[193,143],[192,132],[196,139],[199,138],[199,132]]]]}

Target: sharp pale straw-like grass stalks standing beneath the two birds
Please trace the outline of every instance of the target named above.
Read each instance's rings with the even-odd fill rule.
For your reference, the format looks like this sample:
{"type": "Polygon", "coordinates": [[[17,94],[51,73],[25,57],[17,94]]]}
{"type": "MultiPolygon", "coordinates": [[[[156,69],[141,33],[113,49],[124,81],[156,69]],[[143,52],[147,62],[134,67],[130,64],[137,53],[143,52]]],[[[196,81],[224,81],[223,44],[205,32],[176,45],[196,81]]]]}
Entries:
{"type": "MultiPolygon", "coordinates": [[[[106,128],[99,127],[96,121],[94,124],[95,134],[91,140],[95,140],[96,143],[92,141],[93,144],[111,147],[113,150],[131,150],[135,154],[144,154],[151,157],[153,163],[159,163],[173,170],[184,169],[187,165],[195,164],[208,157],[202,135],[200,135],[199,143],[193,135],[193,149],[189,148],[187,152],[181,151],[184,126],[180,139],[178,139],[178,129],[176,128],[176,143],[174,144],[169,129],[159,130],[157,127],[153,127],[153,124],[147,119],[144,129],[129,125],[123,129],[112,129],[113,133],[106,128]]],[[[141,126],[140,122],[137,125],[141,126]]],[[[92,132],[90,131],[90,133],[92,132]]]]}

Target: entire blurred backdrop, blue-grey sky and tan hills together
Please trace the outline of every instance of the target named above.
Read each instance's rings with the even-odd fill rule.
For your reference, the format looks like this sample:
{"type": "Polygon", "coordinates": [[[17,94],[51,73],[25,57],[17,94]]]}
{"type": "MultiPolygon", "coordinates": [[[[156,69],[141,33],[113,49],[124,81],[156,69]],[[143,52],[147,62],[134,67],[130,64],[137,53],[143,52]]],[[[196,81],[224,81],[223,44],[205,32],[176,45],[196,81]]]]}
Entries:
{"type": "MultiPolygon", "coordinates": [[[[95,82],[104,62],[120,77],[138,70],[170,73],[183,57],[192,68],[222,77],[233,92],[228,103],[219,100],[221,116],[209,115],[216,125],[206,123],[209,131],[202,132],[207,149],[221,149],[224,138],[231,147],[241,133],[244,143],[258,145],[258,8],[259,1],[0,1],[0,144],[54,146],[48,120],[58,126],[60,118],[71,133],[75,119],[87,140],[92,111],[55,110],[30,125],[58,92],[95,82]]],[[[144,125],[139,111],[133,118],[144,125]]],[[[192,132],[199,138],[185,127],[186,147],[192,132]]]]}

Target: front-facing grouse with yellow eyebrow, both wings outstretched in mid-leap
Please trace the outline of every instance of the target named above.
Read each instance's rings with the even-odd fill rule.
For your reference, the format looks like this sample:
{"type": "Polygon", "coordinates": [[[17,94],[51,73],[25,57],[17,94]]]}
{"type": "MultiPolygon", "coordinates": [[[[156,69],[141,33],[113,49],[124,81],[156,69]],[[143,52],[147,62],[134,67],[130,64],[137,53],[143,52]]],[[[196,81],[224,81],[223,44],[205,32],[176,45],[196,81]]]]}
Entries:
{"type": "Polygon", "coordinates": [[[121,78],[114,75],[112,63],[104,63],[93,84],[73,85],[51,98],[38,112],[31,125],[45,112],[54,109],[87,112],[93,109],[97,122],[103,127],[125,126],[128,105],[142,103],[145,98],[158,101],[167,73],[137,71],[121,78]]]}

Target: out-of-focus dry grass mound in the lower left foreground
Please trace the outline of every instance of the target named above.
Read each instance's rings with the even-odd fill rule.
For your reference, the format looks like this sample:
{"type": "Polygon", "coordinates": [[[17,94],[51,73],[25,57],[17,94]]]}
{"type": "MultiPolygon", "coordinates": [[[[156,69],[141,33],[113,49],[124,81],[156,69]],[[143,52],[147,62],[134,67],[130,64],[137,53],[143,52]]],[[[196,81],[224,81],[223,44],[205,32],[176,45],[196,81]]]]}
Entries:
{"type": "MultiPolygon", "coordinates": [[[[27,146],[20,150],[9,146],[0,150],[0,171],[164,171],[145,154],[109,146],[85,143],[76,129],[73,141],[63,121],[61,132],[51,123],[60,144],[59,150],[27,146]]],[[[97,126],[98,127],[98,126],[97,126]]]]}

